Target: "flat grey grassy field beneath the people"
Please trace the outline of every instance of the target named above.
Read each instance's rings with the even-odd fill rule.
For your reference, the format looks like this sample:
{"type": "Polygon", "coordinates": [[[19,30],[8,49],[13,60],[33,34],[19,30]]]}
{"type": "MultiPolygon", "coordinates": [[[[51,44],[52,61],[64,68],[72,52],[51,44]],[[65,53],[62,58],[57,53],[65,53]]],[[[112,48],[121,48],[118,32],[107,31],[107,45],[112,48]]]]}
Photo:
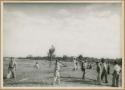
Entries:
{"type": "MultiPolygon", "coordinates": [[[[49,67],[49,61],[47,60],[16,60],[16,78],[6,79],[8,72],[8,60],[4,60],[3,65],[3,78],[5,87],[55,87],[52,85],[54,63],[52,62],[51,68],[49,67]],[[39,69],[34,68],[35,62],[39,62],[39,69]]],[[[63,62],[66,66],[61,68],[61,87],[111,87],[112,75],[108,75],[108,83],[102,83],[98,85],[96,82],[96,67],[95,63],[92,64],[92,69],[86,70],[85,80],[82,80],[82,72],[79,68],[77,71],[73,71],[72,62],[63,62]]],[[[111,65],[111,73],[113,66],[111,65]]],[[[121,76],[120,76],[121,85],[121,76]]]]}

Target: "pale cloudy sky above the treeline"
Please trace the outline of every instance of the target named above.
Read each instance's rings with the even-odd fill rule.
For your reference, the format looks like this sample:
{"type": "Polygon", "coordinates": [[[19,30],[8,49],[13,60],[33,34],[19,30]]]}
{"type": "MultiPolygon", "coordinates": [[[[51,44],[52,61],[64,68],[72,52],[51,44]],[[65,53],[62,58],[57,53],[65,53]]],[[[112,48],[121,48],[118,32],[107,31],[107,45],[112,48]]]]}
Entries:
{"type": "Polygon", "coordinates": [[[120,3],[4,5],[4,56],[121,57],[120,3]]]}

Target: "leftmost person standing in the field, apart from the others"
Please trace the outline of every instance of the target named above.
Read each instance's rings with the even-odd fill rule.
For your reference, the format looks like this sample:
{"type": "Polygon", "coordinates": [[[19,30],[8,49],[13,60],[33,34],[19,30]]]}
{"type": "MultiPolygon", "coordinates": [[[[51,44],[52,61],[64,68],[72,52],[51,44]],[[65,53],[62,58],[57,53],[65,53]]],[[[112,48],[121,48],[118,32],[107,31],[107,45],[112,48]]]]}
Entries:
{"type": "MultiPolygon", "coordinates": [[[[15,62],[15,58],[11,57],[11,60],[9,62],[9,67],[8,67],[8,75],[10,75],[12,78],[16,77],[16,62],[15,62]]],[[[7,78],[10,78],[8,77],[7,78]]]]}

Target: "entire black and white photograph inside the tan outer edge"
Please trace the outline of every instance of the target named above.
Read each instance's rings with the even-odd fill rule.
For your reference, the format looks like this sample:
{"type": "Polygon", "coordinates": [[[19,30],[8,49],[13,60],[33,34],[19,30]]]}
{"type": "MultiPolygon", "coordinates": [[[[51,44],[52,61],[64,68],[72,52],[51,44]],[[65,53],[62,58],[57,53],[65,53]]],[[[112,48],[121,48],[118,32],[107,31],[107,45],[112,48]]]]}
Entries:
{"type": "Polygon", "coordinates": [[[122,2],[3,3],[3,87],[123,86],[122,2]]]}

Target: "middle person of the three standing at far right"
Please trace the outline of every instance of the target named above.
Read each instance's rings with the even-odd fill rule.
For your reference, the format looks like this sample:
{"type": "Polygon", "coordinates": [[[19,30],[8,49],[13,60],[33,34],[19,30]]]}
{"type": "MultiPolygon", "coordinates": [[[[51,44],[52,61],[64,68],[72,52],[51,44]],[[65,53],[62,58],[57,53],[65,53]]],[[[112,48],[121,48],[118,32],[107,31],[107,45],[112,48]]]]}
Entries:
{"type": "Polygon", "coordinates": [[[105,83],[108,83],[108,79],[107,79],[107,64],[105,62],[104,59],[101,60],[102,62],[102,73],[101,73],[101,80],[103,80],[103,78],[105,78],[105,83]]]}

